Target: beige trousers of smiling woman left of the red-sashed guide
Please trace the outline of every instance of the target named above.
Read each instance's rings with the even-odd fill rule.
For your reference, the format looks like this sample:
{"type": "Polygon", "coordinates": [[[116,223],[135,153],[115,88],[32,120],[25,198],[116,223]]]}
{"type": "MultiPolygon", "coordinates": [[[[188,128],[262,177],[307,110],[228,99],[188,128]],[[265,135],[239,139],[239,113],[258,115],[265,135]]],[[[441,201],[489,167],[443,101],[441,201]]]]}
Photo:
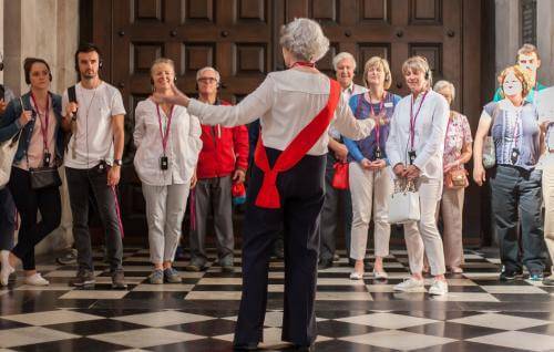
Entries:
{"type": "Polygon", "coordinates": [[[142,184],[148,221],[150,260],[173,261],[181,238],[189,185],[142,184]]]}

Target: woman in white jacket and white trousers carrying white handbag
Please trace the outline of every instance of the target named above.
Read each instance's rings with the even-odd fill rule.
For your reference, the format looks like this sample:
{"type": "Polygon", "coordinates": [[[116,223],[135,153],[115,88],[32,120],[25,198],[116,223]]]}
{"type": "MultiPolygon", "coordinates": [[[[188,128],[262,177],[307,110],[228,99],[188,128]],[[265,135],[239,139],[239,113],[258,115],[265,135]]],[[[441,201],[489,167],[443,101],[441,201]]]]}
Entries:
{"type": "Polygon", "coordinates": [[[411,278],[397,291],[423,291],[423,251],[434,281],[429,293],[445,294],[444,252],[437,228],[437,203],[442,195],[442,154],[449,118],[444,96],[431,90],[431,70],[422,56],[408,59],[402,74],[411,94],[398,103],[390,123],[387,155],[394,177],[414,183],[420,198],[420,221],[404,224],[411,278]]]}

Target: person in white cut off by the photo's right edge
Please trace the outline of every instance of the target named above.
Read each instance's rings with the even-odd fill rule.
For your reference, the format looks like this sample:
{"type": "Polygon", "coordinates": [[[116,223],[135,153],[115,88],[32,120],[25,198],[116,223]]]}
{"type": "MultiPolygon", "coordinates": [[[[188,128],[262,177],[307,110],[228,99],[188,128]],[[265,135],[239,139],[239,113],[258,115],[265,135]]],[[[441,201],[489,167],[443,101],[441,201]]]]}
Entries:
{"type": "MultiPolygon", "coordinates": [[[[548,248],[551,260],[554,260],[554,86],[542,90],[536,95],[535,106],[538,110],[541,128],[546,133],[545,153],[540,165],[543,169],[544,199],[544,241],[548,248]]],[[[554,275],[543,279],[543,283],[554,286],[554,275]]]]}

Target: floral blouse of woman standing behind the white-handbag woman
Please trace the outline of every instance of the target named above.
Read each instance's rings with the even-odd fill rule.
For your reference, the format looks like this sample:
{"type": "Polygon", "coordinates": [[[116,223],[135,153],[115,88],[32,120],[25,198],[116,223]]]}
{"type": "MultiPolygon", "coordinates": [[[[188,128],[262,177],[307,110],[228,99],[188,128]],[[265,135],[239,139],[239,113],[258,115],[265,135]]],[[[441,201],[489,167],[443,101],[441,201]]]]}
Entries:
{"type": "Polygon", "coordinates": [[[444,155],[442,162],[444,165],[455,162],[462,155],[463,146],[473,142],[471,128],[468,117],[458,113],[451,112],[453,118],[449,118],[447,127],[447,136],[444,139],[444,155]]]}

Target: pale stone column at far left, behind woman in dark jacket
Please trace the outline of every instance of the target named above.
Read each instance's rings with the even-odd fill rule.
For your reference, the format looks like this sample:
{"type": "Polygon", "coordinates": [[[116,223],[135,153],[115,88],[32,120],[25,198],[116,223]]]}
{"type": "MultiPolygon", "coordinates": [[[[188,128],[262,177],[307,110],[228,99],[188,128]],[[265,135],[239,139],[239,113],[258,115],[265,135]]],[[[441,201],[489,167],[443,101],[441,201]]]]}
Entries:
{"type": "MultiPolygon", "coordinates": [[[[6,33],[4,83],[17,95],[25,93],[29,89],[24,82],[22,63],[24,58],[35,56],[50,64],[52,92],[61,94],[65,87],[74,84],[76,74],[73,54],[79,44],[79,0],[0,0],[0,9],[1,4],[3,24],[0,28],[6,33]]],[[[65,183],[60,190],[62,224],[37,247],[38,253],[60,249],[72,242],[65,183]]]]}

